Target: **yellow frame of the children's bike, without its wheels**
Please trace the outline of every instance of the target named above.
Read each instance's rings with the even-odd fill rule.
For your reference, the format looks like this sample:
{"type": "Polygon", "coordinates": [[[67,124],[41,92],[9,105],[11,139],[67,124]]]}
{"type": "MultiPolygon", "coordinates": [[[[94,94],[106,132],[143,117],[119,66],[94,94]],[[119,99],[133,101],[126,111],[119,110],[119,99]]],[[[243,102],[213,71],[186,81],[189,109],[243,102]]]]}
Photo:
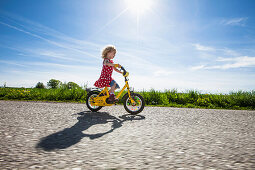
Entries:
{"type": "MultiPolygon", "coordinates": [[[[129,90],[128,80],[125,79],[125,86],[121,89],[119,94],[116,96],[116,99],[120,97],[120,95],[123,93],[125,89],[128,89],[128,96],[132,104],[135,103],[135,101],[131,97],[131,93],[129,90]]],[[[92,101],[90,101],[92,106],[112,106],[113,104],[106,103],[106,99],[110,97],[107,87],[105,87],[96,97],[92,98],[92,101]],[[101,96],[100,96],[101,95],[101,96]]]]}

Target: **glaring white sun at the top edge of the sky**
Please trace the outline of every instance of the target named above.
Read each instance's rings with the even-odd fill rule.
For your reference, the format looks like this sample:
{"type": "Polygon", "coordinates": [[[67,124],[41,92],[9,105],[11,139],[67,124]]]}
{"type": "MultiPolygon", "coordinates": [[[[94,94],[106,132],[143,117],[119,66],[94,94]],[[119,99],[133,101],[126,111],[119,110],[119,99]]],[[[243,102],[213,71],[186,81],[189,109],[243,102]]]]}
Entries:
{"type": "Polygon", "coordinates": [[[152,0],[125,0],[125,3],[128,10],[130,10],[132,13],[135,13],[136,15],[144,14],[153,5],[152,0]]]}

